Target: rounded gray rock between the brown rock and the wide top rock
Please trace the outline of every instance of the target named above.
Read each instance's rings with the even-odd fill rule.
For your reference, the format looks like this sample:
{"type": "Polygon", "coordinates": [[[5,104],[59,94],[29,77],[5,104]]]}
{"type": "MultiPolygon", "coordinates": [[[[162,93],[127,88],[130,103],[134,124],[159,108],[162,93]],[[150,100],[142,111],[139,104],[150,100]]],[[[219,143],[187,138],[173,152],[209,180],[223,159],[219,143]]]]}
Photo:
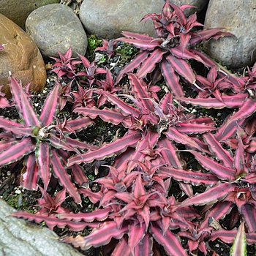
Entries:
{"type": "Polygon", "coordinates": [[[26,20],[26,32],[34,39],[45,58],[58,57],[72,47],[76,53],[86,53],[88,41],[79,18],[64,4],[49,4],[31,12],[26,20]]]}

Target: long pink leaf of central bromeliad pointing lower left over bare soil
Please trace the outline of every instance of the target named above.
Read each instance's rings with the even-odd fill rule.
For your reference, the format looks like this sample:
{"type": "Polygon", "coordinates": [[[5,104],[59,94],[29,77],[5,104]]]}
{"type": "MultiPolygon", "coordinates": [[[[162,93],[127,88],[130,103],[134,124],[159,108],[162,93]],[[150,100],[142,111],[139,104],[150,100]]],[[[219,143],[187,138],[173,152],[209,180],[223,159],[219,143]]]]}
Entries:
{"type": "Polygon", "coordinates": [[[124,135],[123,138],[116,138],[116,140],[113,140],[111,143],[105,143],[97,150],[70,157],[68,160],[68,166],[79,164],[80,162],[92,162],[94,159],[102,160],[105,157],[120,154],[126,151],[128,146],[135,146],[140,138],[141,135],[138,132],[127,133],[127,135],[124,135]]]}

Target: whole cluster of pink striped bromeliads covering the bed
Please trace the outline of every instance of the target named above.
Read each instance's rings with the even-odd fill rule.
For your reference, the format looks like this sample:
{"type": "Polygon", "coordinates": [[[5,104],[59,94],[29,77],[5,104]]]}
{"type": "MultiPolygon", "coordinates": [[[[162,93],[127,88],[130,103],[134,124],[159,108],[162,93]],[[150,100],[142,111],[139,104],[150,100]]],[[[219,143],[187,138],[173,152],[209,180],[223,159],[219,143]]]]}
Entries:
{"type": "Polygon", "coordinates": [[[1,108],[15,106],[21,120],[0,116],[0,167],[22,162],[20,185],[42,192],[36,214],[13,216],[51,229],[91,227],[89,236],[61,240],[111,255],[218,255],[216,239],[245,255],[256,243],[256,64],[238,78],[209,59],[198,43],[231,34],[198,30],[196,14],[184,15],[189,7],[166,1],[161,14],[146,15],[157,38],[124,31],[96,45],[108,58],[120,41],[139,49],[116,78],[85,56],[72,59],[71,48],[59,53],[52,72],[67,83],[56,80],[41,113],[10,77],[12,100],[0,95],[1,108]],[[57,118],[67,106],[74,117],[57,118]],[[215,109],[230,114],[217,124],[215,109]],[[98,146],[76,138],[98,120],[122,132],[98,146]],[[89,166],[108,174],[89,182],[89,166]],[[48,194],[52,180],[62,187],[56,195],[48,194]],[[67,197],[96,208],[72,212],[67,197]]]}

